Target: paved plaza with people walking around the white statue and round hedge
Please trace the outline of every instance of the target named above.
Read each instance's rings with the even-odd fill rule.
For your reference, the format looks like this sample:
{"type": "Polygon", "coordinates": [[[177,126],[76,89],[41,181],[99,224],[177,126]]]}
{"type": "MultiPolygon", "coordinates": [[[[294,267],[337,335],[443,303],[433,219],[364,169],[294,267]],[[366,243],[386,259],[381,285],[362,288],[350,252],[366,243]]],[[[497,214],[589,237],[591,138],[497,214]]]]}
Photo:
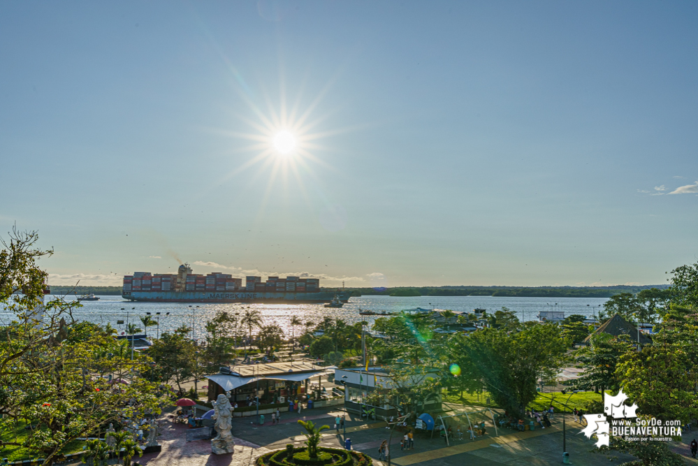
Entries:
{"type": "MultiPolygon", "coordinates": [[[[235,418],[235,453],[221,456],[211,453],[210,440],[187,442],[186,431],[189,428],[166,421],[161,437],[161,453],[145,455],[138,461],[148,466],[248,466],[267,451],[282,449],[289,443],[302,446],[305,437],[302,434],[303,427],[297,423],[299,418],[333,427],[334,418],[338,414],[347,416],[346,434],[342,430],[325,430],[321,446],[340,448],[344,445],[344,439],[349,437],[355,450],[371,456],[374,463],[381,466],[381,462],[377,460],[378,447],[390,435],[390,430],[385,428],[386,423],[366,422],[337,408],[341,407],[304,410],[300,416],[295,413],[283,413],[281,422],[275,425],[270,421],[259,425],[254,416],[235,418]]],[[[266,418],[268,419],[268,416],[266,418]]],[[[572,464],[618,465],[633,459],[630,456],[617,455],[617,458],[609,460],[607,456],[592,453],[594,442],[581,435],[580,430],[581,425],[574,422],[572,416],[568,416],[567,451],[572,464]]],[[[562,420],[559,414],[555,416],[551,428],[532,432],[500,429],[499,435],[485,435],[474,440],[454,440],[450,446],[446,446],[445,440],[437,434],[431,438],[426,432],[417,432],[414,437],[414,449],[401,451],[400,437],[401,434],[395,432],[391,442],[391,463],[397,466],[562,464],[562,420]]],[[[681,453],[687,451],[683,449],[682,444],[677,444],[676,449],[681,453]]],[[[694,464],[691,458],[687,458],[687,461],[687,464],[694,464]]]]}

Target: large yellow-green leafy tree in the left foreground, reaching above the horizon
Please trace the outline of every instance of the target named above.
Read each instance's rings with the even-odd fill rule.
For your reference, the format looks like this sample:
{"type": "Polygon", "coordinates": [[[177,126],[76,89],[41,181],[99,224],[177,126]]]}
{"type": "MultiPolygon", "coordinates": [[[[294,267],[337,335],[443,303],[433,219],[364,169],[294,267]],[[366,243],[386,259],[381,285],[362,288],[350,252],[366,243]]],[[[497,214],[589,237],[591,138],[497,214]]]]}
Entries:
{"type": "Polygon", "coordinates": [[[0,307],[17,316],[0,328],[0,431],[21,428],[26,436],[0,439],[0,448],[24,447],[48,465],[68,443],[106,423],[158,414],[160,398],[138,377],[147,358],[115,354],[112,335],[73,321],[80,303],[58,298],[40,306],[46,275],[35,259],[49,253],[33,249],[35,233],[12,234],[0,251],[0,307]],[[110,386],[108,375],[131,383],[110,386]],[[32,429],[24,431],[27,424],[32,429]]]}

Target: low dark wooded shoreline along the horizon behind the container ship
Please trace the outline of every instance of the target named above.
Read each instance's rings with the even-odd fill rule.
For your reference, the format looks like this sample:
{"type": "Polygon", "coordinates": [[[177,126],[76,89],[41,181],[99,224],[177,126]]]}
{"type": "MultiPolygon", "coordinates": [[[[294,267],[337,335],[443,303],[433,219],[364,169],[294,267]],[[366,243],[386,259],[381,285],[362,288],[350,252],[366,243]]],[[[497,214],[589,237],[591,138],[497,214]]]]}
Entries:
{"type": "MultiPolygon", "coordinates": [[[[395,288],[352,288],[352,296],[509,296],[511,298],[610,298],[618,293],[638,293],[644,289],[667,289],[669,285],[615,286],[398,286],[395,288]]],[[[334,288],[323,287],[331,291],[334,288]]],[[[94,293],[98,296],[121,296],[121,286],[51,286],[51,294],[94,293]]]]}

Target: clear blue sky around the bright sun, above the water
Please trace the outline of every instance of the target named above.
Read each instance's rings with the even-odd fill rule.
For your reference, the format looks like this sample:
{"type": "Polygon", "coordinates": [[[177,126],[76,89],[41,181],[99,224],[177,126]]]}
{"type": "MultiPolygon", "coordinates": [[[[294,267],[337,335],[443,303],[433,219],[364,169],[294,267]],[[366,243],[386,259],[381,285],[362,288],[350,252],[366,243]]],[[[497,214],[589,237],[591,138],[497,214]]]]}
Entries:
{"type": "Polygon", "coordinates": [[[698,254],[693,2],[2,2],[0,231],[52,284],[659,284],[698,254]],[[275,134],[296,138],[279,154],[275,134]]]}

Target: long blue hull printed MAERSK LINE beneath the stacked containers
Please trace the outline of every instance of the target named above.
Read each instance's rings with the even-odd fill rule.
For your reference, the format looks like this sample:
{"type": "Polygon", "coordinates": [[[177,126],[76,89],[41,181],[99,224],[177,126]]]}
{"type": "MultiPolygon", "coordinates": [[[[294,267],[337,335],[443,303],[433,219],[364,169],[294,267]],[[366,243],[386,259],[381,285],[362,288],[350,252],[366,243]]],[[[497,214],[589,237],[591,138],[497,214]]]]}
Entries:
{"type": "Polygon", "coordinates": [[[122,297],[132,301],[153,303],[257,303],[317,304],[329,303],[337,296],[349,302],[351,293],[319,291],[317,293],[275,293],[273,291],[124,291],[122,297]]]}

